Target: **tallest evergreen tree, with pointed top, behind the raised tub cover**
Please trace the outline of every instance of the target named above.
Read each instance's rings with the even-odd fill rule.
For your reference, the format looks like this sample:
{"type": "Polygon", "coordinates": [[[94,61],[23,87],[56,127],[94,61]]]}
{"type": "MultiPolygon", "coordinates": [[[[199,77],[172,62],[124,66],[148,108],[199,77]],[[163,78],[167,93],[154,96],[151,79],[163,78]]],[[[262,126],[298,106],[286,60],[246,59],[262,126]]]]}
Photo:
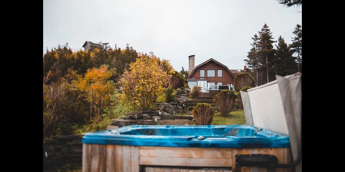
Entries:
{"type": "Polygon", "coordinates": [[[274,38],[272,37],[272,32],[265,23],[261,31],[259,31],[259,47],[261,59],[264,62],[264,65],[260,65],[261,69],[266,71],[267,83],[269,80],[275,79],[276,69],[275,69],[275,49],[273,49],[274,38]]]}

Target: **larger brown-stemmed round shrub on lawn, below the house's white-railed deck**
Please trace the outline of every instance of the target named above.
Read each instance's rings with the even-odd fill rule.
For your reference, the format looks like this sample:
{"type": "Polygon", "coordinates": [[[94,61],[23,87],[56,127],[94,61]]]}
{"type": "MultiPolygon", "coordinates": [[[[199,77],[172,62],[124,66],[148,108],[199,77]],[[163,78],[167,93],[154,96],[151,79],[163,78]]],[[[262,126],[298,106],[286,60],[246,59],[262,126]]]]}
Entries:
{"type": "Polygon", "coordinates": [[[232,90],[223,90],[213,98],[213,104],[218,107],[221,116],[227,117],[233,111],[236,97],[232,90]]]}

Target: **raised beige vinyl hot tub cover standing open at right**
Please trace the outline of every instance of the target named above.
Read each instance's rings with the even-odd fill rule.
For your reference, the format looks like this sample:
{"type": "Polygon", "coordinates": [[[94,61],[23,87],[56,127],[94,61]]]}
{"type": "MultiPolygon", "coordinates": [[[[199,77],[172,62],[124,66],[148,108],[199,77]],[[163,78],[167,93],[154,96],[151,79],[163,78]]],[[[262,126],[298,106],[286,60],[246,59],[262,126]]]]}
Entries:
{"type": "MultiPolygon", "coordinates": [[[[302,122],[302,74],[285,77],[241,91],[247,125],[289,135],[293,158],[300,153],[302,122]]],[[[302,172],[302,161],[295,166],[302,172]]]]}

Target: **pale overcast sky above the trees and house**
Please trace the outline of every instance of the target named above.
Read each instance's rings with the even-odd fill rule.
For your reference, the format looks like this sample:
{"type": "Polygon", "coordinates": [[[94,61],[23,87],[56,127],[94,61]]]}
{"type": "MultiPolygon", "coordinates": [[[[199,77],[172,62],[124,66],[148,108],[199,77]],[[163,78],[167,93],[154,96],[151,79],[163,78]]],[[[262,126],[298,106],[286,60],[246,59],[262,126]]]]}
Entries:
{"type": "Polygon", "coordinates": [[[254,34],[266,23],[275,40],[290,44],[302,25],[302,8],[276,0],[43,0],[43,54],[68,42],[72,50],[85,41],[109,42],[121,49],[153,51],[176,71],[209,58],[229,69],[243,69],[254,34]]]}

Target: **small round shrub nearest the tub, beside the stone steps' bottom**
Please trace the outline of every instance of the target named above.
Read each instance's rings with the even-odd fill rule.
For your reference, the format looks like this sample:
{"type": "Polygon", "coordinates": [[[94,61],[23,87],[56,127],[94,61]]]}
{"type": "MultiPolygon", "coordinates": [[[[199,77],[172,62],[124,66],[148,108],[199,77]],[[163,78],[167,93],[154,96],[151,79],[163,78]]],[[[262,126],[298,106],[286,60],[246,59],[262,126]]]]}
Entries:
{"type": "Polygon", "coordinates": [[[193,108],[192,114],[198,125],[210,125],[214,110],[211,105],[207,103],[198,103],[198,105],[193,108]]]}

